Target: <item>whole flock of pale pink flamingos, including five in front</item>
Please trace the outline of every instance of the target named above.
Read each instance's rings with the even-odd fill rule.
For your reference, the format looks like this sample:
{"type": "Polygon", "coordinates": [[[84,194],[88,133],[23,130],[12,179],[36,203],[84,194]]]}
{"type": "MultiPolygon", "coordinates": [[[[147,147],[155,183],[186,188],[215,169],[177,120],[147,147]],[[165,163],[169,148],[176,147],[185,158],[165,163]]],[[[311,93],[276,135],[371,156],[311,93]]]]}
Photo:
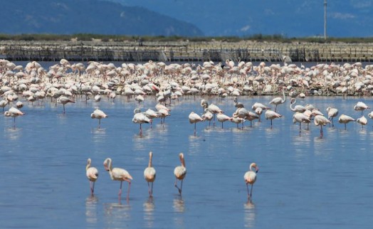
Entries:
{"type": "MultiPolygon", "coordinates": [[[[144,106],[145,100],[155,99],[157,105],[154,108],[146,107],[145,112],[136,108],[134,111],[132,122],[140,124],[140,135],[142,135],[142,124],[152,126],[154,119],[160,119],[162,124],[165,123],[166,118],[170,119],[169,122],[173,121],[169,107],[172,106],[174,100],[179,100],[181,97],[194,99],[204,97],[201,102],[196,102],[195,110],[185,114],[185,119],[187,120],[188,117],[190,124],[194,124],[194,135],[196,135],[197,122],[209,121],[209,127],[206,128],[210,128],[211,120],[214,122],[212,128],[216,128],[216,120],[221,122],[221,128],[224,128],[224,122],[226,122],[225,125],[231,122],[237,127],[241,124],[241,129],[243,129],[243,123],[246,121],[250,121],[251,128],[255,128],[256,125],[253,125],[253,122],[256,120],[261,122],[263,112],[265,118],[270,121],[270,124],[267,124],[268,128],[273,129],[276,128],[273,122],[278,122],[275,120],[288,118],[278,112],[279,107],[286,107],[294,112],[293,123],[299,123],[300,132],[301,124],[307,124],[309,127],[313,119],[315,126],[320,127],[320,138],[323,138],[325,126],[330,124],[332,128],[335,128],[334,118],[342,112],[338,110],[337,105],[333,107],[330,105],[326,110],[327,115],[324,115],[313,105],[295,105],[296,97],[300,98],[298,102],[305,102],[308,97],[320,95],[343,97],[373,95],[373,65],[322,63],[302,68],[293,63],[254,65],[251,62],[234,63],[232,60],[226,61],[225,64],[223,66],[221,63],[209,61],[201,64],[172,63],[167,65],[162,62],[149,61],[138,64],[122,63],[116,66],[113,63],[105,64],[95,61],[86,64],[71,64],[68,60],[62,59],[46,69],[36,61],[29,62],[23,67],[9,60],[0,60],[0,107],[5,117],[14,118],[13,128],[15,129],[16,117],[27,118],[25,112],[22,111],[23,103],[33,106],[36,103],[51,100],[51,103],[56,106],[63,105],[62,110],[65,115],[68,112],[66,112],[68,106],[77,102],[78,97],[83,97],[86,103],[93,98],[92,101],[96,103],[97,109],[90,114],[90,117],[98,119],[98,128],[101,128],[101,119],[109,117],[99,108],[103,100],[115,102],[117,96],[124,96],[128,101],[135,100],[140,107],[144,106]],[[272,96],[273,99],[246,105],[246,101],[238,102],[238,97],[243,95],[267,95],[272,96]],[[217,102],[209,102],[211,97],[219,98],[221,102],[231,101],[234,97],[235,106],[231,107],[230,113],[225,108],[222,110],[217,102]],[[290,104],[285,106],[284,104],[289,101],[290,104]],[[196,111],[201,107],[202,113],[199,115],[196,111]],[[251,107],[252,111],[246,107],[251,107]]],[[[351,110],[358,111],[361,116],[354,118],[353,113],[349,113],[350,110],[345,110],[343,112],[346,115],[340,115],[338,122],[344,124],[345,131],[347,131],[349,122],[356,122],[364,128],[368,123],[364,112],[369,109],[370,107],[364,101],[359,101],[351,107],[351,110]]],[[[87,117],[88,115],[89,113],[87,117]]],[[[373,112],[370,112],[368,117],[373,119],[373,112]]],[[[263,120],[263,122],[269,121],[263,120]]],[[[181,165],[174,169],[176,178],[174,186],[182,195],[182,183],[187,169],[184,154],[179,154],[179,159],[181,165]],[[180,182],[179,185],[178,182],[180,182]]],[[[110,158],[105,159],[104,167],[113,181],[120,181],[119,198],[123,181],[128,183],[127,198],[129,198],[132,182],[130,173],[125,169],[112,168],[110,158]]],[[[252,196],[257,172],[258,166],[254,163],[244,176],[249,198],[252,196]],[[251,185],[250,191],[249,185],[251,185]]],[[[90,192],[93,195],[95,182],[98,180],[98,170],[91,166],[90,159],[86,165],[86,176],[90,181],[90,192]]],[[[149,196],[152,196],[155,181],[152,154],[149,154],[149,164],[144,171],[144,177],[148,182],[149,196]]]]}

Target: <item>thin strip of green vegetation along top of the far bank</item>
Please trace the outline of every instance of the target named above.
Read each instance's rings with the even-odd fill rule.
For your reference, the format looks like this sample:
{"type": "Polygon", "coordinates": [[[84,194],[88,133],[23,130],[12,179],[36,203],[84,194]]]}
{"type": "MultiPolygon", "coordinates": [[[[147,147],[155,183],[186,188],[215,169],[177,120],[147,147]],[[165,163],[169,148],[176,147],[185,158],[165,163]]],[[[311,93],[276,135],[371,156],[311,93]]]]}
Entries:
{"type": "Polygon", "coordinates": [[[221,36],[221,37],[182,37],[182,36],[125,36],[125,35],[103,35],[103,34],[90,34],[90,33],[78,33],[72,35],[56,35],[56,34],[0,34],[0,41],[195,41],[195,42],[209,42],[209,41],[226,41],[226,42],[238,42],[238,41],[267,41],[267,42],[278,42],[278,43],[290,43],[290,42],[310,42],[310,43],[372,43],[373,37],[369,38],[327,38],[327,41],[323,37],[305,37],[305,38],[287,38],[280,34],[274,35],[263,35],[261,33],[254,34],[252,36],[221,36]]]}

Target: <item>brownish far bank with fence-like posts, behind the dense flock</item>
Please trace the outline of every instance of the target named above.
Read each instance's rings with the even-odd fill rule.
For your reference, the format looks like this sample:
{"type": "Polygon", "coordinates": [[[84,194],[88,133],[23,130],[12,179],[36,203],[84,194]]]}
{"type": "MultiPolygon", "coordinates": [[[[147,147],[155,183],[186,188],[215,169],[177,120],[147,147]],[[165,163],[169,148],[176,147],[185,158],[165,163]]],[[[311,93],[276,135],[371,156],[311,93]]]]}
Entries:
{"type": "Polygon", "coordinates": [[[373,43],[0,41],[0,58],[11,61],[282,62],[284,57],[293,62],[373,62],[373,43]]]}

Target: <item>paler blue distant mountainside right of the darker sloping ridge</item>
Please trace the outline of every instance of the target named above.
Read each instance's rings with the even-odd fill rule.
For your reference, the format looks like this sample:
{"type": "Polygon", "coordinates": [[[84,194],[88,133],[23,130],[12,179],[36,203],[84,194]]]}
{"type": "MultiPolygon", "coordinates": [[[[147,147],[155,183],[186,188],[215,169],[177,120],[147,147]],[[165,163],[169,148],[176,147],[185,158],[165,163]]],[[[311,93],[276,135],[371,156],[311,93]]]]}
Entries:
{"type": "MultiPolygon", "coordinates": [[[[193,23],[205,36],[323,36],[325,0],[107,0],[193,23]]],[[[327,1],[327,36],[373,36],[373,0],[327,1]]],[[[156,23],[156,22],[154,22],[156,23]]]]}

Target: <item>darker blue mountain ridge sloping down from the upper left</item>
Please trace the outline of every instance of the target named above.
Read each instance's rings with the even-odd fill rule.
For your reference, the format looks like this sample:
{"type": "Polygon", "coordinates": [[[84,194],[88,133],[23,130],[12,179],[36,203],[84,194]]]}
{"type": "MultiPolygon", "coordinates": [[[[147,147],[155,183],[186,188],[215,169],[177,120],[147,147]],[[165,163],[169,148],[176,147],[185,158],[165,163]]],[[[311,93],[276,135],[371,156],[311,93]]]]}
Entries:
{"type": "Polygon", "coordinates": [[[12,0],[2,3],[0,33],[97,33],[203,36],[199,28],[140,6],[98,0],[12,0]]]}

